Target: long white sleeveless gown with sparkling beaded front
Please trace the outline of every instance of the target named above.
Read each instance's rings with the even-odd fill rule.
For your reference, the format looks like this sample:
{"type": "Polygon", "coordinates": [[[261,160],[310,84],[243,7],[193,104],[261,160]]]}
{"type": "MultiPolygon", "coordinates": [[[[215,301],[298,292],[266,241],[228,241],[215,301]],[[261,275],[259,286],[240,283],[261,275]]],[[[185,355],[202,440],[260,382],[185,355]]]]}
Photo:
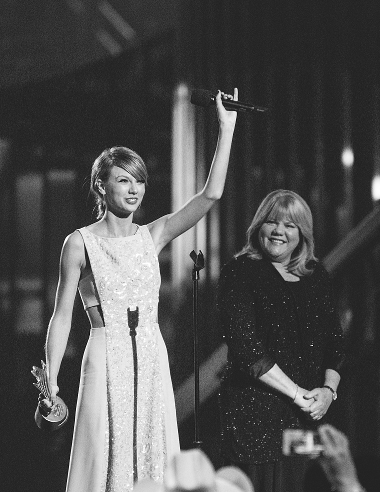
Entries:
{"type": "Polygon", "coordinates": [[[156,323],[158,259],[146,225],[122,238],[78,230],[105,326],[91,329],[83,355],[66,492],[127,492],[136,479],[161,483],[179,452],[167,352],[156,323]],[[135,306],[134,344],[127,309],[135,306]]]}

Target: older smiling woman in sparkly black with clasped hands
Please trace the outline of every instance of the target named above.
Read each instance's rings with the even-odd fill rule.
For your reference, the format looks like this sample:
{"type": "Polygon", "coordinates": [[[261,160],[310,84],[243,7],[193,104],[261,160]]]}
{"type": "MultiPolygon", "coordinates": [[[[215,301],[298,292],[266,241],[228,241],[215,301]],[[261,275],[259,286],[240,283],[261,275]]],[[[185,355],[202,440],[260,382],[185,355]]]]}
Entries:
{"type": "Polygon", "coordinates": [[[281,488],[282,431],[314,428],[336,398],[342,333],[313,249],[306,202],[292,191],[273,191],[219,279],[228,346],[219,391],[221,454],[250,475],[255,492],[281,488]]]}

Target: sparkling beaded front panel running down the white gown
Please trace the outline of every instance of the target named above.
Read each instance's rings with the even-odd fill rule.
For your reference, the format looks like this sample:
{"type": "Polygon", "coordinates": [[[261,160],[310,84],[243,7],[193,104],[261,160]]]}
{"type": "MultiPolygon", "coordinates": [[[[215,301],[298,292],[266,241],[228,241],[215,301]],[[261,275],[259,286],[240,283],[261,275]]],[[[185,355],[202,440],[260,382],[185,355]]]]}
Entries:
{"type": "Polygon", "coordinates": [[[137,478],[162,482],[166,467],[164,401],[156,323],[160,275],[146,225],[105,238],[80,229],[105,324],[108,415],[101,492],[133,488],[133,355],[127,308],[138,306],[137,478]]]}

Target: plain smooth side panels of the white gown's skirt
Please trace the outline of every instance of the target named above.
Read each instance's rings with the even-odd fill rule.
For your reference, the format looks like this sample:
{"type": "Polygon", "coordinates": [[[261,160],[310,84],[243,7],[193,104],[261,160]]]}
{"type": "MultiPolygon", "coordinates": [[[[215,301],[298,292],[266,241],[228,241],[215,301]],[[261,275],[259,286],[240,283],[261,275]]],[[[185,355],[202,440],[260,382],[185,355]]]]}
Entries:
{"type": "MultiPolygon", "coordinates": [[[[179,439],[167,352],[159,330],[158,350],[165,403],[166,455],[170,460],[179,452],[179,439]]],[[[108,427],[106,387],[105,328],[92,328],[81,364],[66,492],[112,491],[106,487],[109,481],[104,450],[108,427]]]]}

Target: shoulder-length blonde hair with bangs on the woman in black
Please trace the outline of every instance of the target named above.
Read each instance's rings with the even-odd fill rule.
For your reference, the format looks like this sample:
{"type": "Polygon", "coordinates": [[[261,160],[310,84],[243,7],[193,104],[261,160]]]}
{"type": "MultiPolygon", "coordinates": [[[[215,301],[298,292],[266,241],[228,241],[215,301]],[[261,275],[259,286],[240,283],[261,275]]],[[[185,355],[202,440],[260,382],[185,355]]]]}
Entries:
{"type": "Polygon", "coordinates": [[[317,261],[314,256],[311,210],[305,200],[294,191],[279,189],[266,195],[246,231],[246,244],[235,258],[244,254],[252,260],[263,258],[258,232],[268,218],[274,220],[286,218],[298,227],[299,242],[291,255],[287,270],[298,276],[311,275],[313,270],[306,265],[310,260],[317,261]]]}

